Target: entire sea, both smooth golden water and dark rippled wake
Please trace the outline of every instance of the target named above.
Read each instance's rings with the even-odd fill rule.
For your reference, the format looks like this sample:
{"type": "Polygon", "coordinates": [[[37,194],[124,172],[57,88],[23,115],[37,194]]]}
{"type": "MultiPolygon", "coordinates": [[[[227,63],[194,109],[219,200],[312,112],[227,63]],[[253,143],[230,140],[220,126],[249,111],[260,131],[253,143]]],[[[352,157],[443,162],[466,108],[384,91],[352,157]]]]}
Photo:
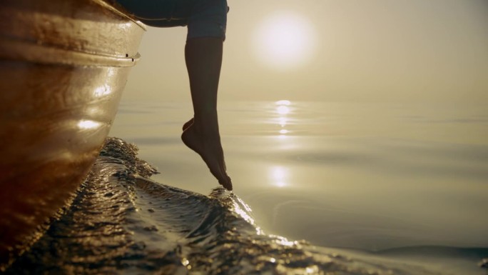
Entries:
{"type": "Polygon", "coordinates": [[[233,192],[192,114],[122,101],[124,141],[11,274],[488,274],[486,104],[220,102],[233,192]]]}

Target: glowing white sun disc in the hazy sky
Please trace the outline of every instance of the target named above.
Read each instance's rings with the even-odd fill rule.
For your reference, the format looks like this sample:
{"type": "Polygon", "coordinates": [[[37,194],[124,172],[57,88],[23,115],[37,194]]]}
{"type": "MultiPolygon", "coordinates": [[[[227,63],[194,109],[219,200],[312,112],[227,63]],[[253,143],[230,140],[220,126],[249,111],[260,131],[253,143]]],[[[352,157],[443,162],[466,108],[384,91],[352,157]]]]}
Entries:
{"type": "Polygon", "coordinates": [[[313,24],[294,11],[275,11],[258,24],[254,56],[265,66],[293,69],[305,64],[316,48],[313,24]]]}

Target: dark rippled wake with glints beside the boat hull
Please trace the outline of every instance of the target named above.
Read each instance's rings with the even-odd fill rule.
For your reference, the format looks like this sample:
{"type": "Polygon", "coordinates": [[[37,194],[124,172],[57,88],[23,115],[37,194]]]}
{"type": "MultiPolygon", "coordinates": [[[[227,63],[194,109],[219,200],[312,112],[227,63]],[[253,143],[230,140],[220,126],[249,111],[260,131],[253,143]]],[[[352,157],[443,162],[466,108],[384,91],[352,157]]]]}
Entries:
{"type": "Polygon", "coordinates": [[[136,153],[108,139],[72,206],[6,273],[450,274],[265,234],[237,195],[158,184],[149,179],[156,170],[136,153]]]}

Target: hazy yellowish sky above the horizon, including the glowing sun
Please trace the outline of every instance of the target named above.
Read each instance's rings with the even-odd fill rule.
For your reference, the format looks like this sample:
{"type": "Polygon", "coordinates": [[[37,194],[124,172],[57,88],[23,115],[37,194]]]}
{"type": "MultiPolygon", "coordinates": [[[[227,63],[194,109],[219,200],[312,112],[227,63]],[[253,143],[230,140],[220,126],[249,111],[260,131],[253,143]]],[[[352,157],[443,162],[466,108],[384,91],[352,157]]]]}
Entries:
{"type": "MultiPolygon", "coordinates": [[[[488,102],[488,0],[228,4],[220,100],[488,102]]],[[[190,99],[185,36],[148,28],[125,99],[190,99]]]]}

